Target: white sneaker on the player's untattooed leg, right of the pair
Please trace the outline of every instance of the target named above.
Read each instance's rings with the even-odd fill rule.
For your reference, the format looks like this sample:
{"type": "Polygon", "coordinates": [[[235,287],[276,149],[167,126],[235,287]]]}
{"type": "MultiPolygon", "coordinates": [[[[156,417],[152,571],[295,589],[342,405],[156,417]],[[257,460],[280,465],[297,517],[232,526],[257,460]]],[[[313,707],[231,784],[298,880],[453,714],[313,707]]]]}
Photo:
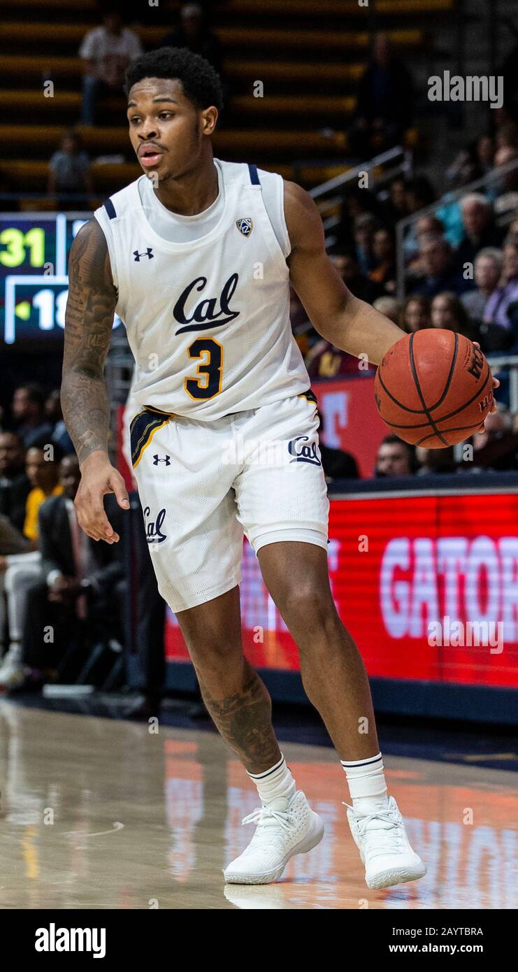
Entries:
{"type": "Polygon", "coordinates": [[[347,807],[351,833],[365,865],[367,887],[390,887],[417,881],[427,873],[425,864],[410,847],[402,816],[393,796],[387,810],[361,816],[347,807]]]}

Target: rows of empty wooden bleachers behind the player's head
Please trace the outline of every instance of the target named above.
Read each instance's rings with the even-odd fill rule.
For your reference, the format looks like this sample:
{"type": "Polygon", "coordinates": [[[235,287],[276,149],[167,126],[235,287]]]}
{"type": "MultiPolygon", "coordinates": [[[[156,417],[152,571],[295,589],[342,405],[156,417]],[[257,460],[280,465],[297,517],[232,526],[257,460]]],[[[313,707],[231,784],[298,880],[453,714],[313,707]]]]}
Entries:
{"type": "MultiPolygon", "coordinates": [[[[434,17],[451,14],[454,2],[378,0],[376,27],[387,30],[401,51],[419,54],[430,43],[434,17]]],[[[171,29],[178,7],[174,2],[167,9],[146,8],[147,22],[131,25],[146,50],[171,29]]],[[[63,128],[80,117],[77,52],[86,32],[100,22],[101,10],[94,0],[67,0],[66,6],[60,0],[0,0],[0,11],[0,104],[9,105],[0,122],[1,188],[27,193],[19,199],[21,209],[52,208],[52,199],[45,197],[48,160],[63,128]],[[44,96],[45,81],[53,83],[52,97],[44,96]]],[[[368,55],[369,17],[367,8],[342,0],[216,4],[214,29],[231,91],[216,152],[230,160],[253,156],[286,178],[296,172],[306,188],[342,171],[355,86],[368,55]],[[253,93],[258,80],[263,97],[253,93]]],[[[103,102],[102,120],[90,128],[77,126],[99,197],[140,171],[127,140],[122,97],[103,102]],[[123,161],[99,163],[99,156],[123,161]]],[[[406,137],[415,145],[418,132],[411,129],[406,137]]],[[[3,208],[9,206],[4,202],[3,208]]]]}

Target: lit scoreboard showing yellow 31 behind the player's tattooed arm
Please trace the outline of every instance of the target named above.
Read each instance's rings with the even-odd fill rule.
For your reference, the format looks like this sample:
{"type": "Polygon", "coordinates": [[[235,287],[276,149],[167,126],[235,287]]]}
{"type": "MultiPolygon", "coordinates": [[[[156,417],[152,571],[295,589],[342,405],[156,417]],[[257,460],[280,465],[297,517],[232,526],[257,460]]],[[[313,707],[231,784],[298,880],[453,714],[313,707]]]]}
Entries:
{"type": "MultiPolygon", "coordinates": [[[[0,348],[62,342],[70,249],[91,213],[0,214],[0,348]]],[[[116,317],[114,326],[120,324],[116,317]]]]}

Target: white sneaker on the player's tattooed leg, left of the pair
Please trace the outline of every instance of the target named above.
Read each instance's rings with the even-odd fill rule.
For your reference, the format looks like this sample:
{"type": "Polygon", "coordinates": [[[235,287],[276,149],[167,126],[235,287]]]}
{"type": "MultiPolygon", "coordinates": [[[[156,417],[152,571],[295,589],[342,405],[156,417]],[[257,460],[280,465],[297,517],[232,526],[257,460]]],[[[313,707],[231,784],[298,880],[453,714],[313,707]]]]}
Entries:
{"type": "Polygon", "coordinates": [[[229,885],[269,885],[277,881],[295,853],[305,853],[320,844],[324,823],[309,806],[302,790],[291,800],[280,797],[243,817],[243,823],[258,827],[246,851],[224,869],[229,885]]]}

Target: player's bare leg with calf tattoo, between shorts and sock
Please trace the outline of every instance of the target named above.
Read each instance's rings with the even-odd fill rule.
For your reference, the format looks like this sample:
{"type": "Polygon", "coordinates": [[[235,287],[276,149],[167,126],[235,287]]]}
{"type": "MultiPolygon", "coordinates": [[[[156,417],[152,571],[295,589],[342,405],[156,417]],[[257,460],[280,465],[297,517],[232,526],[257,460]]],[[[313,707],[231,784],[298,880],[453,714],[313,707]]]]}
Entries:
{"type": "Polygon", "coordinates": [[[203,701],[225,743],[249,773],[268,770],[281,753],[270,696],[243,656],[239,588],[177,616],[203,701]]]}

